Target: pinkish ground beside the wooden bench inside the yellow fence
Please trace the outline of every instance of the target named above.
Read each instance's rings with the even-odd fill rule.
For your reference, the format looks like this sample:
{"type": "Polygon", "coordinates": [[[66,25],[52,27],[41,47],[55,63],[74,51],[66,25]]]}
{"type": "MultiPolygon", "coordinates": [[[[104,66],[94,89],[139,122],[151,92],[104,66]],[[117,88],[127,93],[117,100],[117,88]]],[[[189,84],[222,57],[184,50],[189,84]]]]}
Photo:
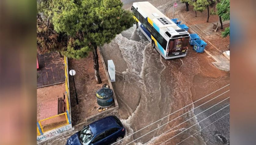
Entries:
{"type": "Polygon", "coordinates": [[[65,83],[37,89],[37,121],[58,115],[58,98],[65,93],[65,83]]]}

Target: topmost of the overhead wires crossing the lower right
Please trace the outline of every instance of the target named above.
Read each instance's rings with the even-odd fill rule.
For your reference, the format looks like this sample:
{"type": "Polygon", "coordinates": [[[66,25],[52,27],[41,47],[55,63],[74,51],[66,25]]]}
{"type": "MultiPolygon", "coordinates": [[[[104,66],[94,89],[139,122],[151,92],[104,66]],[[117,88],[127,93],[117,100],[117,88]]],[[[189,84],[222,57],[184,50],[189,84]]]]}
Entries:
{"type": "MultiPolygon", "coordinates": [[[[228,84],[228,85],[230,85],[230,84],[228,84]]],[[[219,90],[221,90],[221,89],[223,89],[223,88],[227,87],[228,85],[225,85],[224,87],[222,87],[222,88],[220,88],[220,89],[218,89],[218,90],[216,90],[216,91],[214,91],[214,92],[212,92],[212,93],[210,93],[210,94],[208,94],[208,95],[204,96],[203,98],[205,98],[205,97],[207,97],[207,96],[209,96],[209,95],[211,95],[211,94],[213,94],[213,93],[215,93],[215,92],[217,92],[217,91],[219,91],[219,90]]],[[[192,104],[194,104],[194,103],[196,103],[196,102],[200,101],[200,100],[201,100],[201,99],[203,99],[203,98],[200,98],[200,99],[198,99],[197,101],[190,103],[189,105],[192,105],[192,104]]],[[[169,114],[168,116],[170,116],[170,115],[172,115],[172,114],[174,114],[174,113],[176,113],[176,112],[178,112],[178,111],[180,111],[180,110],[182,110],[182,109],[184,109],[184,108],[188,107],[189,105],[186,105],[185,107],[183,107],[183,108],[181,108],[181,109],[178,109],[178,110],[177,110],[177,111],[175,111],[175,112],[172,112],[172,113],[171,113],[171,114],[169,114]]],[[[152,124],[157,123],[158,121],[160,121],[160,120],[162,120],[162,119],[164,119],[164,118],[166,118],[166,117],[168,117],[168,116],[165,116],[165,117],[163,117],[163,118],[161,118],[161,119],[159,119],[159,120],[157,120],[157,121],[155,121],[155,122],[153,122],[153,123],[151,123],[151,124],[149,124],[149,125],[147,125],[147,126],[143,127],[142,129],[145,129],[146,127],[151,126],[152,124]]],[[[124,140],[125,138],[127,138],[127,137],[129,137],[129,136],[131,136],[131,135],[133,135],[133,134],[135,134],[135,133],[137,133],[137,132],[141,131],[142,129],[139,129],[139,130],[135,131],[134,133],[131,133],[130,135],[128,135],[128,136],[126,136],[126,137],[124,137],[123,139],[121,139],[121,140],[119,140],[119,141],[117,141],[117,142],[115,142],[115,143],[112,143],[111,145],[114,145],[114,144],[116,144],[116,143],[118,143],[118,142],[120,142],[120,141],[124,140]]]]}

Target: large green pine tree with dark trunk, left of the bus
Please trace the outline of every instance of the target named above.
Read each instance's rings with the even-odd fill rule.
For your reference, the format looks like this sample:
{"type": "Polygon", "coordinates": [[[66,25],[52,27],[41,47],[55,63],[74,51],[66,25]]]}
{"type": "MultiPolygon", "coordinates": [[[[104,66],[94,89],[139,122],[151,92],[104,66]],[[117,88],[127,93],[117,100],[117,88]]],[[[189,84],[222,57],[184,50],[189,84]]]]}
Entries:
{"type": "Polygon", "coordinates": [[[100,84],[97,47],[110,43],[135,20],[132,13],[122,9],[120,0],[49,0],[40,4],[38,13],[49,15],[54,31],[67,35],[62,53],[80,59],[93,51],[95,78],[100,84]]]}

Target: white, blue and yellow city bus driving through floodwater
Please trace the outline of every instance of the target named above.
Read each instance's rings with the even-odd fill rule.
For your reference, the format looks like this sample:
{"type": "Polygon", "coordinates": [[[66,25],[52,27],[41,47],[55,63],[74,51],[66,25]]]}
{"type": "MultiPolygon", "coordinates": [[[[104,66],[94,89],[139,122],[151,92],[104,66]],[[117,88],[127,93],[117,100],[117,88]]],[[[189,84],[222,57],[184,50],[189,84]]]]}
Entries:
{"type": "Polygon", "coordinates": [[[164,59],[185,57],[189,33],[181,29],[150,2],[134,2],[132,13],[136,26],[164,59]]]}

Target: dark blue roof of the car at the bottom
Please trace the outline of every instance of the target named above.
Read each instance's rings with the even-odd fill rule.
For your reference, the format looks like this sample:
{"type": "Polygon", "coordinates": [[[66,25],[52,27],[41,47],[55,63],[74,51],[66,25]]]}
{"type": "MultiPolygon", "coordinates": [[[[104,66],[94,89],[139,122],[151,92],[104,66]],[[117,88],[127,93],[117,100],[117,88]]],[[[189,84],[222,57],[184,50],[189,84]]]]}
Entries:
{"type": "Polygon", "coordinates": [[[107,129],[118,127],[117,121],[113,116],[107,116],[105,118],[99,119],[91,124],[89,124],[92,134],[97,136],[99,133],[106,131],[107,129]]]}

